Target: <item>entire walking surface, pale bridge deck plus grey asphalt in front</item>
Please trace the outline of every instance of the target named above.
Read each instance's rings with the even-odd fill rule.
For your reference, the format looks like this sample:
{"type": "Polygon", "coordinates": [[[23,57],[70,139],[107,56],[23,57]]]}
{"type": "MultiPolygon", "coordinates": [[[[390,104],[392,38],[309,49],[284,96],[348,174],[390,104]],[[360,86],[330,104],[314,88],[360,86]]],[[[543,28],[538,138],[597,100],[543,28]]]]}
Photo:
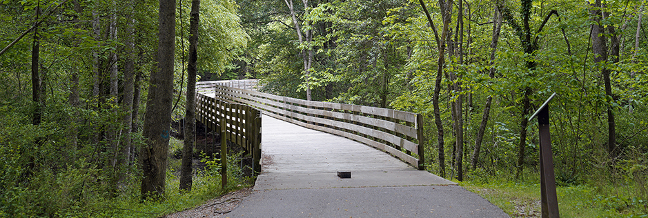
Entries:
{"type": "Polygon", "coordinates": [[[362,143],[267,115],[262,125],[262,173],[226,217],[508,217],[452,181],[362,143]],[[337,171],[351,171],[351,179],[337,171]]]}

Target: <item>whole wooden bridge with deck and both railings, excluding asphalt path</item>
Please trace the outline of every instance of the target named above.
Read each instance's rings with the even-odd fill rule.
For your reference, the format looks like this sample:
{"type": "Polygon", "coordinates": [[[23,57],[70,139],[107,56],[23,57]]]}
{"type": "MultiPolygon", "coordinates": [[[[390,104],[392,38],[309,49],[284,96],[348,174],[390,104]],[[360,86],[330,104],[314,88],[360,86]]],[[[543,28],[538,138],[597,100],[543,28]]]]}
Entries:
{"type": "Polygon", "coordinates": [[[213,130],[226,118],[228,139],[251,152],[262,173],[257,189],[453,184],[418,172],[424,169],[421,115],[270,95],[255,86],[256,80],[197,83],[197,118],[213,130]],[[353,179],[331,176],[340,171],[353,179]],[[386,179],[407,175],[419,178],[386,179]]]}

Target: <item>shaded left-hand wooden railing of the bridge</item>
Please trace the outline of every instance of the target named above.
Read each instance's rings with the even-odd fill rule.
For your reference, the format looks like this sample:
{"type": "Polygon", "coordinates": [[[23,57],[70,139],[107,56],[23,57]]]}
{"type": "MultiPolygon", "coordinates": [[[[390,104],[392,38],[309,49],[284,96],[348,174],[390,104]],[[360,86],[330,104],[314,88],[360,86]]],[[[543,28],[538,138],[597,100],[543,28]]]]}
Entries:
{"type": "Polygon", "coordinates": [[[211,130],[222,132],[222,139],[226,138],[245,148],[253,157],[253,172],[260,172],[261,111],[244,104],[215,99],[204,92],[205,89],[199,90],[196,96],[196,119],[211,130]]]}

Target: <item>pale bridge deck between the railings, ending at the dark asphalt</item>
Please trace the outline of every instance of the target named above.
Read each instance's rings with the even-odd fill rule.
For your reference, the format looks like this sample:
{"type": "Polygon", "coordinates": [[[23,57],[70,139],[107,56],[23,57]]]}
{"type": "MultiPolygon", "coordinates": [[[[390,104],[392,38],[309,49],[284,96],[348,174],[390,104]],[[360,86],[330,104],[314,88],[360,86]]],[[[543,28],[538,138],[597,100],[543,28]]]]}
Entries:
{"type": "Polygon", "coordinates": [[[256,190],[454,184],[351,139],[264,115],[256,190]],[[351,171],[340,179],[337,171],[351,171]]]}

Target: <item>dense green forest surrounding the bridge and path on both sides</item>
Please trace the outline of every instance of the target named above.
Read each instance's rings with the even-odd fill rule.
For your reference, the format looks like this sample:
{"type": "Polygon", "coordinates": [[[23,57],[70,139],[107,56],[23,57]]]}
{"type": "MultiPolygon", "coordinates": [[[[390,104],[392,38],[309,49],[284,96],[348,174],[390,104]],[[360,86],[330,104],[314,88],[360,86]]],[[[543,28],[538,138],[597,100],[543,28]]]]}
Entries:
{"type": "MultiPolygon", "coordinates": [[[[176,3],[173,121],[186,111],[191,5],[176,3]]],[[[647,6],[202,0],[197,79],[260,79],[276,95],[420,113],[426,170],[482,184],[538,181],[537,125],[527,119],[556,92],[558,186],[590,187],[614,210],[645,215],[647,6]]],[[[0,8],[0,217],[115,216],[139,202],[159,2],[0,8]]],[[[166,186],[167,199],[179,197],[177,182],[166,186]]]]}

